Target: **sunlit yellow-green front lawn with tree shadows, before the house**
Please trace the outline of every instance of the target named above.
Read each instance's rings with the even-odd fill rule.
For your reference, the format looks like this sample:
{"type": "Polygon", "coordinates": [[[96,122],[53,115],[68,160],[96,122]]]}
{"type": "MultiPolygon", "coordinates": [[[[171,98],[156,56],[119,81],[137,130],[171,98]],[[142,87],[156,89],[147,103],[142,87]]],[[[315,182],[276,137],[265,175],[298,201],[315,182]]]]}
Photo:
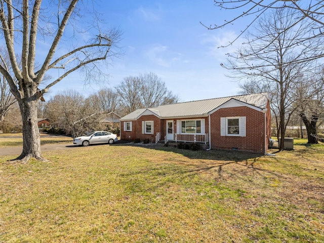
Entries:
{"type": "Polygon", "coordinates": [[[0,157],[0,242],[323,242],[324,146],[100,145],[0,157]],[[276,152],[276,150],[270,150],[276,152]]]}

